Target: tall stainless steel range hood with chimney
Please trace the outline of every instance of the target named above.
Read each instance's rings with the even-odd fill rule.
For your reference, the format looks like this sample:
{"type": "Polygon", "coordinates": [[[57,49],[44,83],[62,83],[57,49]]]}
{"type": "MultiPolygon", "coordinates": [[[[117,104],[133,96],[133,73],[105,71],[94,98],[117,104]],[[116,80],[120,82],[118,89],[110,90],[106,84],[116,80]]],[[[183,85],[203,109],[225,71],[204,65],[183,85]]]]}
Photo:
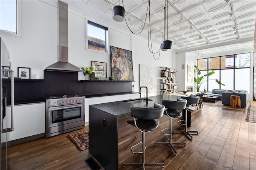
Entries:
{"type": "Polygon", "coordinates": [[[82,71],[68,62],[68,4],[58,1],[58,61],[46,67],[47,71],[82,71]]]}

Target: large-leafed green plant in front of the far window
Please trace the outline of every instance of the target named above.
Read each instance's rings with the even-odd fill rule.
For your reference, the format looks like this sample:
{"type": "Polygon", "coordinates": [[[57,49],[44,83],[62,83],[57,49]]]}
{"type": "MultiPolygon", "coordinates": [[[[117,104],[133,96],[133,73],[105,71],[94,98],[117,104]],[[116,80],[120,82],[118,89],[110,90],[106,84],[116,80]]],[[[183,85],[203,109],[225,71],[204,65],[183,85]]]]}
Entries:
{"type": "MultiPolygon", "coordinates": [[[[202,85],[202,83],[204,83],[205,81],[208,81],[208,80],[214,80],[214,79],[208,79],[208,80],[205,80],[205,81],[204,81],[204,78],[205,78],[205,77],[208,77],[208,76],[210,76],[210,75],[212,75],[212,74],[214,74],[214,73],[215,73],[215,72],[214,72],[215,70],[212,70],[211,72],[200,76],[200,75],[201,75],[200,69],[199,69],[196,65],[195,65],[194,67],[195,67],[195,71],[196,71],[196,73],[197,73],[197,77],[196,77],[196,76],[194,77],[194,83],[195,83],[196,91],[198,92],[199,89],[200,89],[200,87],[201,87],[201,85],[202,85]]],[[[216,83],[218,83],[219,85],[224,85],[224,84],[222,84],[220,81],[218,81],[218,79],[215,79],[215,81],[216,81],[216,83]]]]}

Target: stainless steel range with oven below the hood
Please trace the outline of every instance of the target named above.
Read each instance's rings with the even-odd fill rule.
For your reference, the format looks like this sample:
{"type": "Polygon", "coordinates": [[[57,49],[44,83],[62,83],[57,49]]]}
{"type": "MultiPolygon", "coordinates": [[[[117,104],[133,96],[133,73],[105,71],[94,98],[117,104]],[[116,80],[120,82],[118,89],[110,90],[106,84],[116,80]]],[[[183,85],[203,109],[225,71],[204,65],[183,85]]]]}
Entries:
{"type": "Polygon", "coordinates": [[[79,95],[46,97],[46,138],[84,128],[84,103],[79,95]]]}

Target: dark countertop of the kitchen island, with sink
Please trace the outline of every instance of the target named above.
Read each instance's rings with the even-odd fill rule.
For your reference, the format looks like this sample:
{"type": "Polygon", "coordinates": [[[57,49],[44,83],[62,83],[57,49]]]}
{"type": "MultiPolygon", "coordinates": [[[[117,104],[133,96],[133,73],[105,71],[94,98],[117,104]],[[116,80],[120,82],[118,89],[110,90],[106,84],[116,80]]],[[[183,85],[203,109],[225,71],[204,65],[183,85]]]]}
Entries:
{"type": "MultiPolygon", "coordinates": [[[[163,99],[176,101],[178,97],[180,97],[180,96],[157,95],[157,96],[148,97],[148,99],[150,99],[150,101],[148,101],[148,104],[146,104],[146,102],[131,104],[131,103],[126,103],[125,101],[116,101],[116,102],[110,102],[110,103],[90,105],[89,107],[94,107],[94,108],[104,111],[110,115],[120,117],[120,116],[130,114],[131,106],[146,107],[146,108],[154,107],[154,103],[162,104],[163,99]]],[[[131,99],[131,100],[134,100],[134,99],[131,99]]],[[[131,100],[126,100],[126,101],[131,101],[131,100]]]]}

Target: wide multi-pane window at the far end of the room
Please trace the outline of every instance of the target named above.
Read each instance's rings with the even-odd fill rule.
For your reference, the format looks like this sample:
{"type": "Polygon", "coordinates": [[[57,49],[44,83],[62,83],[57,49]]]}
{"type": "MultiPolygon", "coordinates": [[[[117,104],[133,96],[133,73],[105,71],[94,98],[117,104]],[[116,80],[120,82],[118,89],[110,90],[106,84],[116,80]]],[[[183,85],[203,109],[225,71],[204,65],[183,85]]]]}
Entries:
{"type": "Polygon", "coordinates": [[[215,73],[208,77],[209,81],[201,85],[200,91],[203,91],[203,88],[207,87],[207,91],[220,88],[227,90],[247,90],[250,93],[250,53],[198,59],[197,64],[201,73],[206,74],[211,69],[215,70],[215,73]],[[211,64],[209,63],[210,59],[211,64]],[[206,65],[206,61],[208,61],[208,67],[203,68],[202,65],[206,65]],[[213,79],[218,79],[225,86],[213,83],[213,79]]]}

